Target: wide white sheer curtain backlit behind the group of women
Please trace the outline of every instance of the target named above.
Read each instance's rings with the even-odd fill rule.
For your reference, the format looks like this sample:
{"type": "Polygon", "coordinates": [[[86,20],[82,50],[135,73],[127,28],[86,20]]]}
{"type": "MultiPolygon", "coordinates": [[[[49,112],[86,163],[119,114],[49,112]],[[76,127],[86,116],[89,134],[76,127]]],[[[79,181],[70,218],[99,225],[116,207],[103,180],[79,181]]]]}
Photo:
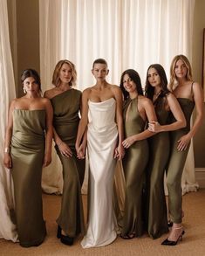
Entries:
{"type": "MultiPolygon", "coordinates": [[[[136,69],[144,84],[147,67],[152,63],[161,63],[169,76],[174,55],[182,53],[191,60],[194,7],[195,0],[39,1],[44,90],[51,87],[59,59],[75,63],[81,90],[92,85],[90,70],[98,58],[107,60],[108,80],[114,84],[119,84],[120,73],[127,68],[136,69]]],[[[51,165],[44,171],[50,181],[53,173],[60,180],[57,161],[54,156],[55,168],[51,165]]],[[[195,172],[193,161],[188,168],[195,172]]]]}

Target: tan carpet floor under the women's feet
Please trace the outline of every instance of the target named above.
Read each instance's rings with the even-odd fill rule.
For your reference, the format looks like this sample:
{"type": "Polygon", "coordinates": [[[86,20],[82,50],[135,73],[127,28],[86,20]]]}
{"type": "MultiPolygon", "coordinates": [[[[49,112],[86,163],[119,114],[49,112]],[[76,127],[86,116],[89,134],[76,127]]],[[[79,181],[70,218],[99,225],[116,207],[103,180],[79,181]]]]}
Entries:
{"type": "MultiPolygon", "coordinates": [[[[141,238],[125,240],[118,237],[113,244],[100,248],[82,249],[79,238],[73,246],[65,246],[56,238],[60,206],[60,196],[43,194],[44,218],[46,220],[47,237],[38,247],[23,248],[18,243],[0,239],[1,256],[21,255],[69,255],[69,256],[204,256],[205,255],[205,190],[188,193],[183,196],[183,226],[186,231],[183,240],[177,246],[161,246],[160,239],[150,239],[147,234],[141,238]]],[[[86,197],[83,196],[85,211],[86,197]]],[[[86,212],[85,212],[86,214],[86,212]]],[[[1,217],[0,217],[1,218],[1,217]]]]}

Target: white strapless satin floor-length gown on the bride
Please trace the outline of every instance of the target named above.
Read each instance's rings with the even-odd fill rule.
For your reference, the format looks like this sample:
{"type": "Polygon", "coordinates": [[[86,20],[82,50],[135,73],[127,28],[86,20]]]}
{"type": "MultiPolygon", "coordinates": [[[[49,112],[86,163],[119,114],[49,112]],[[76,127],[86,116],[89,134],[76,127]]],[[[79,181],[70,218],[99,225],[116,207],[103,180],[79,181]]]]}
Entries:
{"type": "Polygon", "coordinates": [[[113,153],[118,140],[116,101],[89,100],[88,104],[89,209],[83,248],[106,246],[117,237],[113,211],[113,153]]]}

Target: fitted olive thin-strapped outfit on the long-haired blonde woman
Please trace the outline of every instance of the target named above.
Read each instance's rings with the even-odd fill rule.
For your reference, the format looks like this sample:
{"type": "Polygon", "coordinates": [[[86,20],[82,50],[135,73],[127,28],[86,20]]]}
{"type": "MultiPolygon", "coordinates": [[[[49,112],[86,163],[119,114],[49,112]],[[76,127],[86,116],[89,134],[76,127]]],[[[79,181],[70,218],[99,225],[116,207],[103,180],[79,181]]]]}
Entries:
{"type": "MultiPolygon", "coordinates": [[[[178,140],[188,134],[190,130],[190,118],[195,107],[195,102],[186,98],[178,98],[183,114],[187,121],[187,127],[170,133],[170,158],[167,165],[167,190],[168,211],[174,223],[181,223],[181,176],[188,156],[188,149],[177,150],[178,140]]],[[[174,121],[172,117],[171,121],[174,121]]]]}

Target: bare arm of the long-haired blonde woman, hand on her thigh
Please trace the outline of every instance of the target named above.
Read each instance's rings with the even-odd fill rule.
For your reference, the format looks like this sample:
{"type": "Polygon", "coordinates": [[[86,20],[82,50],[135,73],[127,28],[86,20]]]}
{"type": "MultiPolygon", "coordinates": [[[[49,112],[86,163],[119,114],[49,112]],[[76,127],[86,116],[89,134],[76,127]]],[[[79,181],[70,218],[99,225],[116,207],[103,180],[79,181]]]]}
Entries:
{"type": "Polygon", "coordinates": [[[198,83],[194,83],[193,93],[194,93],[195,109],[196,109],[195,122],[193,124],[193,127],[188,132],[188,134],[182,136],[181,139],[178,141],[179,144],[177,149],[180,151],[187,149],[188,143],[194,137],[196,131],[198,130],[198,128],[200,128],[202,124],[202,119],[204,115],[202,86],[200,86],[198,83]]]}

